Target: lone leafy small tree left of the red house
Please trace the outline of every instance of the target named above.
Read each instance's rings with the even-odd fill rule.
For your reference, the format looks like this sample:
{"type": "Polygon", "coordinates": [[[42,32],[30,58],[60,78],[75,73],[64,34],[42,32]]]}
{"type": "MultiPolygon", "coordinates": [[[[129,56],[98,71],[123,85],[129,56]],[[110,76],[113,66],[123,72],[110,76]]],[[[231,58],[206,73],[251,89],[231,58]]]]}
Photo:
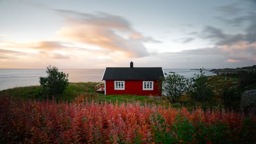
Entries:
{"type": "Polygon", "coordinates": [[[51,98],[55,94],[62,93],[68,86],[68,74],[59,72],[55,66],[46,67],[47,77],[39,77],[39,83],[43,87],[44,97],[51,98]],[[50,96],[50,97],[49,97],[50,96]]]}

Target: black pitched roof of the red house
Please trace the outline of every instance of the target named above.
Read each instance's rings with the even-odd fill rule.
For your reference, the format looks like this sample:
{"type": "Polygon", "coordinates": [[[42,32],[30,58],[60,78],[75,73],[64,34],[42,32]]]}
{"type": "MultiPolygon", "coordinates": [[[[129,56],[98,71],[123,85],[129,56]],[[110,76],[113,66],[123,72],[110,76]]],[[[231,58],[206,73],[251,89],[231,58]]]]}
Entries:
{"type": "Polygon", "coordinates": [[[162,68],[106,68],[102,80],[158,80],[162,68]]]}

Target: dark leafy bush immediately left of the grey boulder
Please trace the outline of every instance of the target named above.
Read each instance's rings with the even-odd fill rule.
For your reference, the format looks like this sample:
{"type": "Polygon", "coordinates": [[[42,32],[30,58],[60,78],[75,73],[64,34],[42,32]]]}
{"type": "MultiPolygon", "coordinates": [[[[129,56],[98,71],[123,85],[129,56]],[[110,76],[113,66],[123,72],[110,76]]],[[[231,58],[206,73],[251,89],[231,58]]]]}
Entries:
{"type": "Polygon", "coordinates": [[[237,108],[239,104],[237,104],[236,102],[240,101],[240,99],[241,99],[241,92],[236,89],[229,89],[226,87],[224,88],[221,94],[222,104],[224,108],[228,110],[231,110],[231,108],[237,108]]]}

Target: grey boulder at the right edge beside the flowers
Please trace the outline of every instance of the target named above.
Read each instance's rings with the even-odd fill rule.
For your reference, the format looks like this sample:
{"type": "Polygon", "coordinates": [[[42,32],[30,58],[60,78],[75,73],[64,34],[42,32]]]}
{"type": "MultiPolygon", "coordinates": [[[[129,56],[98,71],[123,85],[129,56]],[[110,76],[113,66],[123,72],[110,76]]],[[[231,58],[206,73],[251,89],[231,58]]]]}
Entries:
{"type": "Polygon", "coordinates": [[[241,96],[240,108],[244,110],[256,108],[256,90],[243,92],[241,96]]]}

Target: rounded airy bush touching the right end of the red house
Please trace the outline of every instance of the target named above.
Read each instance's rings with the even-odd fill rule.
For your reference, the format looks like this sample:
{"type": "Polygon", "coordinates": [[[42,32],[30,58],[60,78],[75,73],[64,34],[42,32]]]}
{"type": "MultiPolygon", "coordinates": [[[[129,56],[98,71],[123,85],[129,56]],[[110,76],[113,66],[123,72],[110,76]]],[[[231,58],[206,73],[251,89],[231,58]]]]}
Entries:
{"type": "Polygon", "coordinates": [[[166,93],[170,102],[177,102],[181,94],[188,89],[188,79],[184,76],[173,74],[165,78],[161,77],[160,79],[162,81],[163,92],[166,93]]]}

